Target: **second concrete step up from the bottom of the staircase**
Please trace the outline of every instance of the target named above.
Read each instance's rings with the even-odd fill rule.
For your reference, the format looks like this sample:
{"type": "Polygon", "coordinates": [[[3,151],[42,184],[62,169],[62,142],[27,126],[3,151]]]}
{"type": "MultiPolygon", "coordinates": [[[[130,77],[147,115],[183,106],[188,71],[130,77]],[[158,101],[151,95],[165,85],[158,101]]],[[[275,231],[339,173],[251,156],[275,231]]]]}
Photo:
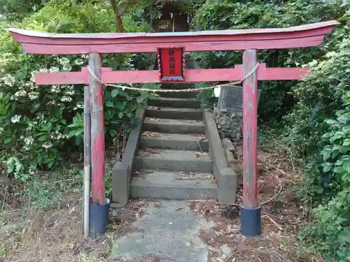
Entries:
{"type": "Polygon", "coordinates": [[[135,170],[160,169],[190,172],[213,172],[213,162],[208,153],[189,150],[139,150],[135,170]]]}

